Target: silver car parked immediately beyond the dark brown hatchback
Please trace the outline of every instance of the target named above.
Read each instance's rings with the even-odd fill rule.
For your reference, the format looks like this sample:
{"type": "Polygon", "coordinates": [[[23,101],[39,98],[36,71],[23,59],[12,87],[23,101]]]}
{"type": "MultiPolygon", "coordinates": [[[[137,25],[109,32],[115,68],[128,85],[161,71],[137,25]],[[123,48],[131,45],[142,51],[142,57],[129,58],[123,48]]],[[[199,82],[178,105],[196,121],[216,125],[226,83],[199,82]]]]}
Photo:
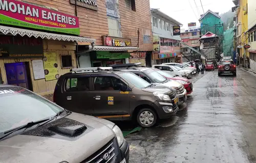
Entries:
{"type": "Polygon", "coordinates": [[[141,67],[136,64],[116,64],[111,66],[114,69],[118,69],[120,71],[135,73],[153,85],[164,86],[166,88],[173,89],[179,99],[179,105],[187,100],[187,91],[184,89],[184,86],[178,82],[175,82],[174,80],[168,80],[167,78],[163,77],[158,72],[156,72],[156,69],[141,67]]]}

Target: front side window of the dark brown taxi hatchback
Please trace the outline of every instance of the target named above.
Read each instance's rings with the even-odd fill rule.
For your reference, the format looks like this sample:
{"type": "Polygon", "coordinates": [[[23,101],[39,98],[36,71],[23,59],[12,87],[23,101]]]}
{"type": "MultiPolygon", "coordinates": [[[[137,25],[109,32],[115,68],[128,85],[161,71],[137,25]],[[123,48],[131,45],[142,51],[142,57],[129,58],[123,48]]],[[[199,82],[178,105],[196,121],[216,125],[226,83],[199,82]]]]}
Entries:
{"type": "Polygon", "coordinates": [[[121,85],[126,86],[120,79],[113,76],[94,77],[95,91],[121,91],[121,85]]]}

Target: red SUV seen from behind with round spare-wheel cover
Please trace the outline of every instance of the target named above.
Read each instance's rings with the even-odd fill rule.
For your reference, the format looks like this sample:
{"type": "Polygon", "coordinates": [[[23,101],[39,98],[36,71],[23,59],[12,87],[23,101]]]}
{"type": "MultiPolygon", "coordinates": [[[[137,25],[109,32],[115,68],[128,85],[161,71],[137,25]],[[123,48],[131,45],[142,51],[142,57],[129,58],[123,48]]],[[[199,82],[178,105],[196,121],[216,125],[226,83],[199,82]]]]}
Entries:
{"type": "Polygon", "coordinates": [[[237,76],[237,66],[234,64],[232,60],[229,61],[221,61],[218,66],[218,75],[222,74],[233,74],[237,76]]]}

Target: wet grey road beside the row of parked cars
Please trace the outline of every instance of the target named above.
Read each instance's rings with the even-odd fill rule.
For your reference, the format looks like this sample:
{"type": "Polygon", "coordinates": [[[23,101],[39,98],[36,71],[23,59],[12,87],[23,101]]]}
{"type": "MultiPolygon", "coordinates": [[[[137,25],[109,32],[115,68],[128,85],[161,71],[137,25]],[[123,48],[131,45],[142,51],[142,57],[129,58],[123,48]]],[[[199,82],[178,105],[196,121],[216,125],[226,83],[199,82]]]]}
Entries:
{"type": "Polygon", "coordinates": [[[184,110],[128,135],[130,162],[256,162],[256,77],[217,70],[191,79],[184,110]]]}

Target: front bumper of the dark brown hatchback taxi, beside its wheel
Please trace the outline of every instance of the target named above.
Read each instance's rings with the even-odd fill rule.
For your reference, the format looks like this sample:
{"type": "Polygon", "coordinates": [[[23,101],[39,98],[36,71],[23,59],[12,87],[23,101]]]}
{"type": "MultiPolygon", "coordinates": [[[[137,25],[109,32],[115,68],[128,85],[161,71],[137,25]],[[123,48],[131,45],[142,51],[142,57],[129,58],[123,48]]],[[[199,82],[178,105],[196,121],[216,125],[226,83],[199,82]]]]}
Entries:
{"type": "Polygon", "coordinates": [[[170,103],[170,102],[156,101],[153,103],[153,107],[155,108],[159,119],[170,118],[173,115],[175,115],[179,110],[178,102],[174,105],[173,103],[170,103]],[[173,109],[173,112],[166,113],[163,109],[163,107],[166,107],[166,106],[171,107],[173,109]]]}

